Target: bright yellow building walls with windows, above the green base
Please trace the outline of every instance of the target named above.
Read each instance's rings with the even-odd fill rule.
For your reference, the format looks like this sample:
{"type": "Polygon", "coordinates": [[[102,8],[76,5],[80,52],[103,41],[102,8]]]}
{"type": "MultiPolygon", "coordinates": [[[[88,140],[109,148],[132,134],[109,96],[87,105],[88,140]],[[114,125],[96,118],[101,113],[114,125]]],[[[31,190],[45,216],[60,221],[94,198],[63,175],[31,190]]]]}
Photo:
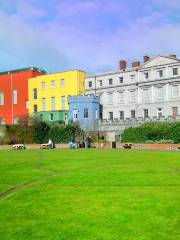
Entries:
{"type": "Polygon", "coordinates": [[[68,110],[68,96],[83,94],[84,80],[85,72],[80,70],[30,78],[29,113],[68,110]]]}

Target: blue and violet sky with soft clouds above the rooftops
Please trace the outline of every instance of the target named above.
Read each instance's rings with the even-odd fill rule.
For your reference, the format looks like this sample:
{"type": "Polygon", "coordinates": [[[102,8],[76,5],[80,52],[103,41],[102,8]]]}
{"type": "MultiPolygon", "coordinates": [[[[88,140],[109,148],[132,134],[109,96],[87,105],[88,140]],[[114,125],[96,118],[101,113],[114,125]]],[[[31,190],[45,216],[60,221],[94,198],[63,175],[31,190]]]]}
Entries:
{"type": "Polygon", "coordinates": [[[180,57],[180,0],[0,0],[0,71],[89,73],[120,58],[180,57]]]}

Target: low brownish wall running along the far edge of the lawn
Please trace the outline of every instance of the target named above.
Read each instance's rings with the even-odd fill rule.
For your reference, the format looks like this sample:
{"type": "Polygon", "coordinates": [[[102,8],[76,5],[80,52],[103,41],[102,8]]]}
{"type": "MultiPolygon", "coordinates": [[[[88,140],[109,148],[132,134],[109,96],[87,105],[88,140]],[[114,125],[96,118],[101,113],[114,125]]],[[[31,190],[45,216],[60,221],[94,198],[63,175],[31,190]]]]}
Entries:
{"type": "MultiPolygon", "coordinates": [[[[112,148],[112,143],[94,143],[95,148],[106,149],[112,148]]],[[[117,149],[124,149],[124,143],[116,143],[117,149]]],[[[26,144],[27,149],[40,149],[40,144],[26,144]]],[[[0,150],[11,149],[12,145],[0,145],[0,150]]],[[[58,149],[68,149],[67,144],[56,144],[58,149]]],[[[132,149],[147,149],[147,150],[178,150],[180,144],[133,144],[132,149]]]]}

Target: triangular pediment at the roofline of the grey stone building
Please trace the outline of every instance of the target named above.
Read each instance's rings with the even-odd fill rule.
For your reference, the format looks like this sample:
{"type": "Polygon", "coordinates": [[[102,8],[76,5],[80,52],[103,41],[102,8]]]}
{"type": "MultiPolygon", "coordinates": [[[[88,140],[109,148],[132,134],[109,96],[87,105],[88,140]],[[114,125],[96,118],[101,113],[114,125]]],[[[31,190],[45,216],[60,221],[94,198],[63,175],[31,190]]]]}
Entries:
{"type": "Polygon", "coordinates": [[[165,65],[165,64],[171,64],[171,63],[177,63],[179,62],[176,59],[173,58],[168,58],[168,57],[163,57],[163,56],[157,56],[147,63],[145,63],[142,68],[149,68],[149,67],[155,67],[155,66],[160,66],[160,65],[165,65]]]}

